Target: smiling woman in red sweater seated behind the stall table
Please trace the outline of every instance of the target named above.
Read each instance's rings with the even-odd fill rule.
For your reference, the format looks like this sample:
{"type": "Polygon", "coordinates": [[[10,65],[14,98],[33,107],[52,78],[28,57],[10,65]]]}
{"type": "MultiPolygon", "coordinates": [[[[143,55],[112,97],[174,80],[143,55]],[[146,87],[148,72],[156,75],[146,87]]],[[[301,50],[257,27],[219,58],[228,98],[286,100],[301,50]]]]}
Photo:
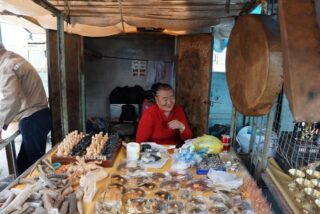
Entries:
{"type": "Polygon", "coordinates": [[[173,89],[168,84],[157,84],[156,104],[142,115],[136,135],[137,142],[156,142],[179,145],[192,133],[181,106],[175,105],[173,89]]]}

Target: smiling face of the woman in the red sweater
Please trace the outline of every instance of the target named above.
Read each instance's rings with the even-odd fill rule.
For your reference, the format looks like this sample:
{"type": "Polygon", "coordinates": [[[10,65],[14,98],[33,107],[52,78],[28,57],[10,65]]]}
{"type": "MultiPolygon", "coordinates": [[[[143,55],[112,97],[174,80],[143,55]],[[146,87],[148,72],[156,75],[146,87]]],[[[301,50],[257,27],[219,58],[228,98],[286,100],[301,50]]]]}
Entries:
{"type": "Polygon", "coordinates": [[[157,91],[156,102],[164,112],[170,112],[175,104],[173,91],[170,89],[157,91]]]}

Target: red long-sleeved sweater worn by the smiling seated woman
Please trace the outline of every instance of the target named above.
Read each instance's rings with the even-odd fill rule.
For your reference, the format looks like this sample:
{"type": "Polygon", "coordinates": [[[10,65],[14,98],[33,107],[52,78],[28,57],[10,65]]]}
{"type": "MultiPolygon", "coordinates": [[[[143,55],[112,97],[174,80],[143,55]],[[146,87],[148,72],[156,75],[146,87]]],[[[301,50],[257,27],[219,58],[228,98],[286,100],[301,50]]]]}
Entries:
{"type": "Polygon", "coordinates": [[[181,141],[192,138],[187,117],[181,106],[174,106],[169,117],[156,105],[152,105],[142,115],[139,122],[136,141],[156,142],[163,145],[177,145],[181,141]],[[179,120],[185,126],[185,130],[180,133],[178,129],[170,129],[168,122],[179,120]]]}

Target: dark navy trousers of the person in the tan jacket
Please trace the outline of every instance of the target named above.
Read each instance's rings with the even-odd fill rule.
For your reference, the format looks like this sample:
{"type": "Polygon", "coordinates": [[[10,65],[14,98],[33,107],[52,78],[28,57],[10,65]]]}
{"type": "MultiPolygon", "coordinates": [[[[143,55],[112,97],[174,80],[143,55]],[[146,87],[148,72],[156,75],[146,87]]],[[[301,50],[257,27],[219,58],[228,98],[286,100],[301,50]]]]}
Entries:
{"type": "Polygon", "coordinates": [[[19,122],[22,144],[17,158],[18,172],[22,174],[46,152],[47,135],[51,130],[48,108],[33,113],[19,122]]]}

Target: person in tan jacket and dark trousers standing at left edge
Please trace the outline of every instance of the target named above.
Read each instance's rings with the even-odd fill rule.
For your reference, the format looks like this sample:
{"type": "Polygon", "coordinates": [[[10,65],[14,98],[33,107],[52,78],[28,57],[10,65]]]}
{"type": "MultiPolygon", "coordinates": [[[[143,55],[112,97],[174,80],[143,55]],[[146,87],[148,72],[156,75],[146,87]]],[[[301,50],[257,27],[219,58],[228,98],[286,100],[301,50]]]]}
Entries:
{"type": "Polygon", "coordinates": [[[22,135],[17,158],[21,174],[45,153],[51,116],[37,71],[0,43],[0,140],[1,130],[12,121],[19,121],[22,135]]]}

